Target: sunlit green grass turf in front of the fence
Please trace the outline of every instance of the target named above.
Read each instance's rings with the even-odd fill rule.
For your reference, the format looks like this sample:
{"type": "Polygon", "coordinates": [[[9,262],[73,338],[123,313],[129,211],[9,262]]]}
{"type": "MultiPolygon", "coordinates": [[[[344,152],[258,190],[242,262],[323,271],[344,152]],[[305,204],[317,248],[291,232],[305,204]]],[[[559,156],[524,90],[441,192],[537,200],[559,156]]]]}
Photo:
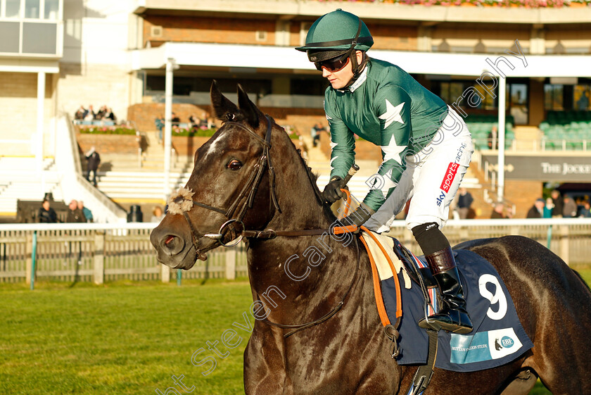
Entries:
{"type": "MultiPolygon", "coordinates": [[[[591,270],[582,270],[587,282],[591,270]]],[[[203,376],[191,355],[215,356],[232,322],[251,302],[246,281],[114,282],[104,286],[37,282],[0,287],[0,394],[155,394],[184,375],[191,394],[243,394],[242,353],[218,344],[227,358],[203,376]],[[221,342],[220,342],[221,343],[221,342]]],[[[250,317],[251,322],[252,317],[250,317]]],[[[180,391],[185,394],[185,391],[180,391]]],[[[170,394],[170,393],[169,393],[170,394]]],[[[530,394],[550,394],[538,382],[530,394]]]]}

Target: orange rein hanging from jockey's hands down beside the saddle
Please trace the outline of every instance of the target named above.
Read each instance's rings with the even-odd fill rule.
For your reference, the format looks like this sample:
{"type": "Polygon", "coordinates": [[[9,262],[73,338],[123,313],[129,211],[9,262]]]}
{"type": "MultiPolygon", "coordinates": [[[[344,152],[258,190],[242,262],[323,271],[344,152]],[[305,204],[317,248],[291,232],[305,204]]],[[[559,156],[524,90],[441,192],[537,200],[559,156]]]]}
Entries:
{"type": "MultiPolygon", "coordinates": [[[[351,206],[351,194],[347,189],[341,189],[341,192],[344,192],[347,195],[347,201],[345,203],[345,214],[347,215],[349,212],[349,208],[351,206]]],[[[398,280],[398,274],[394,268],[394,264],[390,259],[388,253],[383,248],[383,246],[378,242],[378,239],[374,236],[373,233],[367,227],[362,226],[361,230],[364,230],[371,239],[374,239],[374,242],[379,246],[380,250],[382,251],[383,255],[386,256],[386,260],[388,261],[388,265],[390,265],[390,270],[392,270],[392,275],[394,277],[394,282],[396,284],[396,318],[402,317],[402,294],[400,292],[400,280],[398,280]]],[[[357,227],[355,225],[348,225],[345,227],[335,227],[334,234],[343,234],[348,232],[355,232],[357,231],[357,227]]],[[[386,313],[386,306],[383,305],[383,299],[381,298],[381,287],[380,287],[380,278],[378,274],[378,269],[376,267],[376,261],[374,260],[374,256],[371,255],[369,248],[367,247],[367,243],[360,237],[361,242],[365,246],[367,254],[369,255],[369,262],[371,263],[371,274],[374,278],[374,296],[376,298],[376,306],[378,308],[378,314],[380,316],[380,320],[383,326],[390,325],[390,319],[388,318],[388,314],[386,313]]]]}

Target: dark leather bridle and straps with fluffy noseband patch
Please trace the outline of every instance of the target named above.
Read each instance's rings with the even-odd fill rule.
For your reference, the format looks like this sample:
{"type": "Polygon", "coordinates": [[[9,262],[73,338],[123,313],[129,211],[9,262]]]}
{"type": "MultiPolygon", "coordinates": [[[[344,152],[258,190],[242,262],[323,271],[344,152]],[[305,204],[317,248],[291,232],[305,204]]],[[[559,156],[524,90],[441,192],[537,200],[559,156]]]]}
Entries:
{"type": "MultiPolygon", "coordinates": [[[[254,137],[258,142],[260,142],[260,144],[263,147],[262,154],[261,154],[260,158],[258,159],[258,161],[253,166],[252,172],[250,173],[250,176],[248,177],[246,184],[244,184],[239,195],[236,196],[236,199],[234,199],[234,202],[231,203],[231,205],[226,210],[224,210],[222,208],[210,206],[208,204],[201,203],[199,201],[194,201],[192,199],[193,192],[191,192],[187,189],[184,189],[184,191],[182,191],[183,189],[179,189],[179,192],[177,192],[176,194],[173,194],[170,197],[169,211],[170,211],[170,206],[172,206],[172,205],[174,205],[174,206],[178,205],[179,207],[182,206],[182,208],[177,209],[177,213],[179,213],[179,212],[182,213],[187,224],[189,225],[189,229],[191,230],[191,241],[193,242],[193,248],[195,249],[197,256],[203,256],[203,254],[205,252],[207,252],[211,249],[215,249],[217,246],[220,246],[220,245],[227,246],[227,247],[236,246],[236,244],[238,244],[243,237],[256,238],[256,239],[274,239],[275,237],[278,237],[278,236],[297,237],[297,236],[319,235],[319,234],[324,234],[324,233],[331,234],[331,235],[336,234],[336,232],[331,229],[328,229],[328,230],[327,229],[278,230],[278,231],[274,231],[274,230],[270,230],[270,229],[267,229],[267,230],[246,230],[244,223],[242,222],[242,219],[244,218],[244,215],[246,215],[246,211],[248,211],[248,208],[253,207],[255,195],[258,191],[258,187],[259,187],[260,181],[262,180],[262,175],[265,172],[265,169],[267,169],[267,172],[269,173],[269,196],[270,196],[271,203],[273,204],[274,208],[279,213],[281,213],[281,208],[279,207],[279,202],[277,201],[277,196],[275,196],[275,170],[273,168],[273,164],[272,164],[271,156],[270,156],[270,152],[269,152],[269,150],[271,149],[271,131],[272,131],[272,127],[273,127],[273,120],[272,120],[272,118],[269,117],[269,115],[265,115],[265,118],[267,118],[267,132],[265,134],[265,139],[262,139],[262,137],[260,137],[258,134],[256,134],[256,132],[254,130],[251,130],[249,127],[246,127],[245,125],[243,125],[241,123],[237,123],[237,122],[233,121],[233,119],[234,119],[233,116],[232,116],[231,120],[227,120],[224,122],[224,126],[225,125],[234,125],[236,127],[240,127],[243,130],[246,130],[246,132],[248,132],[252,137],[254,137]],[[238,209],[240,201],[243,200],[245,197],[247,199],[246,199],[246,201],[244,201],[242,207],[240,208],[238,215],[236,215],[236,218],[232,218],[234,216],[234,213],[236,213],[236,210],[238,209]],[[191,211],[191,208],[193,208],[193,206],[198,206],[201,208],[206,208],[210,211],[215,211],[216,213],[220,213],[227,218],[227,221],[222,224],[222,226],[220,227],[220,230],[217,233],[203,235],[203,237],[208,237],[210,239],[217,240],[217,243],[212,244],[212,246],[208,246],[207,249],[201,250],[197,246],[198,239],[199,239],[198,233],[196,232],[195,227],[193,227],[193,222],[191,222],[191,218],[189,218],[189,214],[188,214],[189,211],[191,211]],[[229,225],[231,225],[233,223],[237,223],[237,224],[241,225],[242,230],[239,232],[240,236],[236,240],[234,240],[234,242],[232,244],[225,244],[223,241],[223,239],[225,237],[224,228],[228,227],[229,225]]],[[[341,233],[352,231],[352,229],[350,229],[350,227],[343,226],[340,228],[341,228],[341,230],[343,230],[341,233]]],[[[236,232],[236,230],[231,230],[231,232],[236,232]]],[[[291,334],[294,334],[295,332],[299,332],[300,330],[305,330],[305,329],[312,327],[314,325],[318,325],[318,324],[328,320],[333,315],[335,315],[339,310],[341,310],[341,308],[345,304],[345,299],[347,298],[350,290],[352,289],[353,285],[355,284],[355,280],[357,279],[357,273],[359,272],[359,269],[360,269],[361,256],[360,256],[360,249],[359,249],[359,244],[358,244],[357,240],[355,240],[355,246],[357,247],[357,265],[355,267],[355,274],[353,275],[352,280],[351,280],[347,290],[345,291],[345,294],[343,294],[341,301],[339,301],[336,304],[336,306],[331,311],[329,311],[329,313],[326,313],[325,315],[322,316],[322,318],[319,318],[318,320],[314,320],[311,322],[305,322],[303,324],[295,324],[295,325],[279,324],[277,322],[269,321],[266,318],[261,321],[265,322],[267,325],[272,325],[274,327],[279,327],[279,328],[283,328],[283,329],[291,329],[291,332],[284,334],[284,337],[286,338],[286,337],[291,336],[291,334]]]]}

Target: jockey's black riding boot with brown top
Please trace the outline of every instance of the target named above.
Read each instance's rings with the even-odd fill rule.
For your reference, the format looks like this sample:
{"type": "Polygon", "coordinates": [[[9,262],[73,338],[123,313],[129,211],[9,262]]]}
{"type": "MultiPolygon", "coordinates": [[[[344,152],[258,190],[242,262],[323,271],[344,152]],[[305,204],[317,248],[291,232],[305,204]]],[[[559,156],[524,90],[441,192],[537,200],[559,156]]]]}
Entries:
{"type": "MultiPolygon", "coordinates": [[[[425,258],[443,297],[443,308],[438,313],[430,315],[429,321],[436,324],[435,327],[439,325],[441,329],[450,332],[472,332],[472,322],[466,312],[464,291],[459,282],[451,247],[426,255],[425,258]]],[[[423,318],[419,321],[419,327],[431,328],[431,325],[423,318]]]]}

